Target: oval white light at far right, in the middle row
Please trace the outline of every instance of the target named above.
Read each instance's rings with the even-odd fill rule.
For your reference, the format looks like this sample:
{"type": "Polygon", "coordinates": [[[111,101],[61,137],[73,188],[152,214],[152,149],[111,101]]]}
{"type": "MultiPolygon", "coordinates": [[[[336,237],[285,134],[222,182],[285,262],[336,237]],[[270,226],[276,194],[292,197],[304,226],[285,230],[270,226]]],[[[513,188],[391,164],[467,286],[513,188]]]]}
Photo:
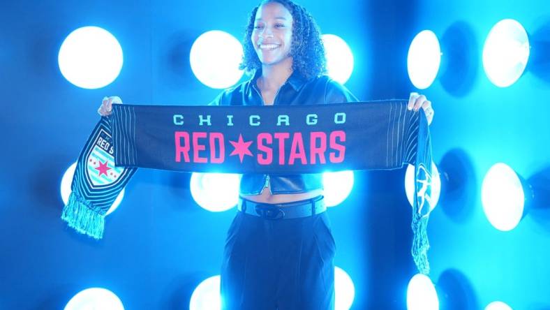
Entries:
{"type": "Polygon", "coordinates": [[[483,212],[498,230],[514,229],[523,216],[525,195],[516,172],[505,163],[493,165],[483,179],[483,212]]]}

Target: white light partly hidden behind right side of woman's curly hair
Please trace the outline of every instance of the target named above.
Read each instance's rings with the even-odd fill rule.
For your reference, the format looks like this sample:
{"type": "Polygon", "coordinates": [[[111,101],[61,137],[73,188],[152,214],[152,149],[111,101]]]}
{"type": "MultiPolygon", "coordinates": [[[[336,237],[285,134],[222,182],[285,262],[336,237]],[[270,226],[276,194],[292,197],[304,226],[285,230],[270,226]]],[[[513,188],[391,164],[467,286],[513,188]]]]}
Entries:
{"type": "Polygon", "coordinates": [[[348,43],[334,34],[323,34],[322,43],[327,57],[327,73],[332,80],[344,84],[353,72],[353,54],[348,43]]]}

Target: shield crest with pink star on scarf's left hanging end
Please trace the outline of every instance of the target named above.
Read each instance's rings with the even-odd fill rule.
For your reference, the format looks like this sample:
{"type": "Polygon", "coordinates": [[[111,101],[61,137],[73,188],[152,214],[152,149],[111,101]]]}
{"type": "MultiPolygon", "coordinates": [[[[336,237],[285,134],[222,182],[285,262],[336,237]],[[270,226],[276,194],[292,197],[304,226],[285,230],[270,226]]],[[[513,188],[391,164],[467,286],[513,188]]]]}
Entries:
{"type": "Polygon", "coordinates": [[[86,177],[92,188],[114,184],[120,179],[124,168],[114,166],[112,137],[103,128],[86,158],[86,177]]]}

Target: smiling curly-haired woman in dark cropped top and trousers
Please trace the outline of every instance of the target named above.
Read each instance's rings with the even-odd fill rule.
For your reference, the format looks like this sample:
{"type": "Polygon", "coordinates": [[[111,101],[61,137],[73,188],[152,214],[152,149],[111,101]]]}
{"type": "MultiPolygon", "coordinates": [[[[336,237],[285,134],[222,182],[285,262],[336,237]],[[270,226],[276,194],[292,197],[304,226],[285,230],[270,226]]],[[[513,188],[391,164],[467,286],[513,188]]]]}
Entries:
{"type": "MultiPolygon", "coordinates": [[[[313,105],[357,101],[327,75],[320,31],[290,0],[253,9],[241,69],[251,80],[223,91],[214,105],[313,105]]],[[[99,109],[109,115],[118,97],[99,109]]],[[[411,94],[408,108],[431,103],[411,94]]],[[[241,178],[241,198],[225,242],[221,271],[224,309],[334,309],[336,245],[320,174],[241,178]]]]}

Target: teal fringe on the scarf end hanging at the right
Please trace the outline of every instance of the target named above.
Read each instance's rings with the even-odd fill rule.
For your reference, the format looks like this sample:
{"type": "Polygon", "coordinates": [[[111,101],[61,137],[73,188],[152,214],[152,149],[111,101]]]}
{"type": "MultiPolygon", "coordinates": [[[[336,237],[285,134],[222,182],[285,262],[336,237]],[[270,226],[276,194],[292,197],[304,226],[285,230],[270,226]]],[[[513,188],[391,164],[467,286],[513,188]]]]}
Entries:
{"type": "Polygon", "coordinates": [[[428,219],[429,216],[422,216],[413,210],[413,259],[418,272],[428,275],[430,273],[430,264],[428,262],[428,219]]]}

